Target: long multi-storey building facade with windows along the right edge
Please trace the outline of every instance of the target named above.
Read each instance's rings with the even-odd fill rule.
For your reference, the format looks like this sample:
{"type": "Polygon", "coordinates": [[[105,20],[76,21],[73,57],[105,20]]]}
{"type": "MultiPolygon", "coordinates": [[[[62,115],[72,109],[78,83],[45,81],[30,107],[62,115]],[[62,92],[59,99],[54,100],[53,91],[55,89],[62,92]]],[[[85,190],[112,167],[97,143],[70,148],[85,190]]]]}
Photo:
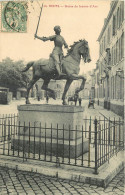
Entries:
{"type": "Polygon", "coordinates": [[[112,1],[98,37],[95,99],[118,115],[124,113],[124,1],[112,1]]]}

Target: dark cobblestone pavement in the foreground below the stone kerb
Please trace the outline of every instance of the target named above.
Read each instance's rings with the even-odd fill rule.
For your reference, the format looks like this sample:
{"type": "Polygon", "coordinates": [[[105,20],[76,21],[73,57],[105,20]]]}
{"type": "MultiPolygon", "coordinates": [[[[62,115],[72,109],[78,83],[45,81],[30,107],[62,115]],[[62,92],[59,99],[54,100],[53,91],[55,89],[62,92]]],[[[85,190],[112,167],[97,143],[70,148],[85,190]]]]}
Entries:
{"type": "Polygon", "coordinates": [[[0,194],[12,195],[124,195],[123,170],[104,189],[94,185],[0,167],[0,194]]]}

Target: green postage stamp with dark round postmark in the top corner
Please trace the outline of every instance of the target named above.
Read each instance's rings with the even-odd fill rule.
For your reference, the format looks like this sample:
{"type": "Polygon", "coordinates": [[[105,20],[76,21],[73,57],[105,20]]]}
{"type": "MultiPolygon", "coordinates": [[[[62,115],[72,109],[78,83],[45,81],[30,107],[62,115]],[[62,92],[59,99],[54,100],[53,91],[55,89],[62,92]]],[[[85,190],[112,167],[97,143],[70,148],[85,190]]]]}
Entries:
{"type": "Polygon", "coordinates": [[[27,3],[9,1],[1,4],[1,31],[27,32],[27,3]]]}

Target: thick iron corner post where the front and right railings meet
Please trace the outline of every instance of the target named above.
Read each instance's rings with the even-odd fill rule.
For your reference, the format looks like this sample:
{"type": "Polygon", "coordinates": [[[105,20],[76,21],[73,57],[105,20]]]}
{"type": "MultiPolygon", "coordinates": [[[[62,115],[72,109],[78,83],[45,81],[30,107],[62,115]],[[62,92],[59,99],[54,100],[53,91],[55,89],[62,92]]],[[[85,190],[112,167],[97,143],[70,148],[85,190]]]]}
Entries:
{"type": "Polygon", "coordinates": [[[97,119],[94,120],[95,124],[95,174],[98,174],[98,166],[97,166],[97,119]]]}

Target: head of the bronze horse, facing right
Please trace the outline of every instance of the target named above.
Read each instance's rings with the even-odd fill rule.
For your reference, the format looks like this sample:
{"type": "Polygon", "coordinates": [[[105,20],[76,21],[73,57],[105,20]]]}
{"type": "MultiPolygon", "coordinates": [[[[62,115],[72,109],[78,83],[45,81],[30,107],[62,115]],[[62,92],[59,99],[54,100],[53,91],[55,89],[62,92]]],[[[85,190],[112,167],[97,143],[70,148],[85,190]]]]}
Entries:
{"type": "Polygon", "coordinates": [[[80,40],[78,45],[78,53],[83,57],[85,63],[91,62],[90,50],[86,40],[80,40]]]}

